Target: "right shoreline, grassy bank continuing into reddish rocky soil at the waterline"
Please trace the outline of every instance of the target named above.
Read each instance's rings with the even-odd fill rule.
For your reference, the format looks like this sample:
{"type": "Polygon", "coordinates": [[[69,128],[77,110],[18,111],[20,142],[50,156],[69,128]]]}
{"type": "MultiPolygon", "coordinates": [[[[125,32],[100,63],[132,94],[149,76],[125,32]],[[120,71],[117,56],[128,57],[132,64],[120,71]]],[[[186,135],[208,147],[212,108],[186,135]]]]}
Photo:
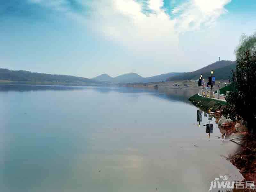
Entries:
{"type": "MultiPolygon", "coordinates": [[[[190,97],[189,101],[196,107],[208,112],[222,110],[226,105],[225,101],[205,98],[198,94],[190,97]]],[[[233,122],[222,116],[222,112],[216,113],[215,118],[222,134],[220,139],[228,140],[237,136],[241,137],[237,143],[239,148],[230,154],[227,160],[239,169],[239,172],[244,177],[244,181],[256,182],[256,141],[252,139],[252,135],[248,133],[242,121],[233,122]]],[[[237,142],[237,140],[235,140],[235,142],[237,142]]]]}

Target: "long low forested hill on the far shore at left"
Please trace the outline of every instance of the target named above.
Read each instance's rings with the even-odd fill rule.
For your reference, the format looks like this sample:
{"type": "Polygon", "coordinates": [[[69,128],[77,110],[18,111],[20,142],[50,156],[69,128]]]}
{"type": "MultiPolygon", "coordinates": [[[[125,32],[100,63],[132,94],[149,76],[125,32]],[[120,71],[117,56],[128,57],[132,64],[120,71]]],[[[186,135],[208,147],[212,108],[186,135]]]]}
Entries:
{"type": "Polygon", "coordinates": [[[28,84],[92,84],[97,81],[76,76],[51,75],[45,73],[32,73],[30,71],[13,71],[0,68],[0,80],[28,84]]]}

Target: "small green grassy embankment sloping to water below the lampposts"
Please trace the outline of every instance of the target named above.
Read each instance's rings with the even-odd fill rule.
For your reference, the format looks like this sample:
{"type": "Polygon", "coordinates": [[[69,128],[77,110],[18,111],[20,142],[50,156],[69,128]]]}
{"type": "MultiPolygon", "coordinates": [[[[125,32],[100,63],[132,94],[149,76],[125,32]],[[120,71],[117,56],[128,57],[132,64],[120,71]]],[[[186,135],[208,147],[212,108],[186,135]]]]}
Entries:
{"type": "Polygon", "coordinates": [[[226,105],[225,101],[202,97],[198,94],[193,95],[188,100],[192,102],[195,106],[203,109],[204,111],[211,112],[222,110],[226,105]]]}

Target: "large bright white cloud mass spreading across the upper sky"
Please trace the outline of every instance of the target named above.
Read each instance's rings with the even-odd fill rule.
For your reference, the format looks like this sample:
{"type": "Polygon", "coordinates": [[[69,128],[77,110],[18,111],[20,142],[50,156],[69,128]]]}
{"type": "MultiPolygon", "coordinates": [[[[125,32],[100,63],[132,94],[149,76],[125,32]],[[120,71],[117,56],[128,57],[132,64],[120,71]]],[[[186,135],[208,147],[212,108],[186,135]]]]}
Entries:
{"type": "MultiPolygon", "coordinates": [[[[65,12],[68,17],[91,28],[95,35],[117,42],[141,57],[150,57],[153,63],[166,63],[167,66],[177,61],[181,65],[189,61],[180,48],[180,35],[214,26],[227,12],[224,6],[231,0],[187,0],[176,6],[170,15],[163,0],[77,0],[89,7],[89,17],[72,11],[68,0],[29,1],[65,12]],[[145,2],[146,9],[151,10],[147,14],[144,12],[145,2]]],[[[172,0],[172,5],[174,3],[172,0]]]]}

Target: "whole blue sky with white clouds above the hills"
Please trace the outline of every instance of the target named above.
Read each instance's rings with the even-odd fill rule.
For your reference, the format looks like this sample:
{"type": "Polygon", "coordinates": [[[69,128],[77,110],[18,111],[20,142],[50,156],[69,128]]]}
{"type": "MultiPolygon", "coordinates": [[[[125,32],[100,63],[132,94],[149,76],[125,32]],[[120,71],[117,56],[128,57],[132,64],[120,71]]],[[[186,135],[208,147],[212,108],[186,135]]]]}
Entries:
{"type": "Polygon", "coordinates": [[[0,68],[148,77],[235,60],[255,0],[2,0],[0,68]]]}

